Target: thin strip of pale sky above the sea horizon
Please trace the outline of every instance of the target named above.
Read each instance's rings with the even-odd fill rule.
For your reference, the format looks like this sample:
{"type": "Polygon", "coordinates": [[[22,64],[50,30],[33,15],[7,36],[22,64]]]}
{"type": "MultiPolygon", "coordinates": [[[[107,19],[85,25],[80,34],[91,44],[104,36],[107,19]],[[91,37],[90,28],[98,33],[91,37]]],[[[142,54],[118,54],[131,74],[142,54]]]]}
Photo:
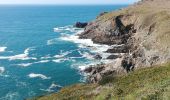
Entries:
{"type": "Polygon", "coordinates": [[[56,5],[95,5],[95,4],[132,4],[138,0],[0,0],[0,4],[56,4],[56,5]]]}

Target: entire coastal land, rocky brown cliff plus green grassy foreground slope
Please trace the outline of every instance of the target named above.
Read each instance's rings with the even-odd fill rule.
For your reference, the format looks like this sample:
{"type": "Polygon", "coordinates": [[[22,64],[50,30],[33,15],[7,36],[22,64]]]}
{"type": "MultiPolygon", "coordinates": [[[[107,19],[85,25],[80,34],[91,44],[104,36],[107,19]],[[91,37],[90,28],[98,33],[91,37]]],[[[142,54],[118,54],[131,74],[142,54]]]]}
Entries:
{"type": "Polygon", "coordinates": [[[79,38],[114,45],[106,52],[121,55],[117,59],[115,57],[111,63],[85,69],[85,72],[90,74],[88,82],[100,85],[76,85],[48,97],[56,100],[90,100],[89,97],[93,98],[92,100],[133,100],[142,99],[144,96],[144,99],[165,97],[164,99],[168,100],[169,64],[158,68],[141,68],[170,61],[169,26],[170,0],[142,0],[128,8],[100,14],[96,20],[88,23],[79,38]],[[132,70],[137,71],[131,72],[132,70]],[[126,75],[121,76],[122,74],[126,75]],[[143,95],[144,93],[146,95],[143,95]]]}

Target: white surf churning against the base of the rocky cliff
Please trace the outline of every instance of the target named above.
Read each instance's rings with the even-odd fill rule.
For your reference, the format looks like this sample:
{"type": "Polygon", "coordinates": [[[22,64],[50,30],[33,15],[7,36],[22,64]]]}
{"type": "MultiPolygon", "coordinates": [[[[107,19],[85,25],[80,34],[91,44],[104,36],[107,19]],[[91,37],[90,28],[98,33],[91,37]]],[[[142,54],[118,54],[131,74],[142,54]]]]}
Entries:
{"type": "MultiPolygon", "coordinates": [[[[73,27],[70,26],[69,27],[73,27]]],[[[64,27],[61,28],[54,28],[55,32],[60,32],[64,29],[64,27]]],[[[67,29],[67,28],[66,28],[67,29]]],[[[121,56],[124,55],[124,53],[109,53],[108,50],[118,47],[121,45],[107,45],[107,44],[99,44],[94,43],[92,39],[80,39],[79,35],[84,32],[84,28],[76,28],[73,27],[73,30],[77,30],[75,34],[62,34],[59,39],[64,41],[70,41],[75,44],[78,44],[78,47],[81,49],[87,49],[90,53],[82,54],[82,52],[79,52],[82,57],[85,57],[86,59],[92,60],[91,63],[78,66],[78,70],[80,71],[81,75],[84,77],[85,82],[88,83],[88,78],[91,72],[89,72],[89,68],[96,68],[98,65],[111,65],[120,60],[121,56]]],[[[104,67],[103,66],[103,67],[104,67]]],[[[111,69],[111,68],[110,68],[111,69]]],[[[109,70],[109,69],[107,69],[109,70]]]]}

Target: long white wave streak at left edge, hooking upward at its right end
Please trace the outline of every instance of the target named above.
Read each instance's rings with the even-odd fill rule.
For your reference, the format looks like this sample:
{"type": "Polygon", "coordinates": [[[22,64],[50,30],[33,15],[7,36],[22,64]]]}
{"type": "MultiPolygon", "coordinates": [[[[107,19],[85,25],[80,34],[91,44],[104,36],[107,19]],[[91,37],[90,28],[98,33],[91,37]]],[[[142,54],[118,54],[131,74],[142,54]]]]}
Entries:
{"type": "Polygon", "coordinates": [[[29,57],[29,51],[33,50],[32,48],[27,48],[24,50],[23,54],[18,54],[14,56],[0,56],[0,59],[8,59],[8,60],[37,60],[35,57],[29,57]]]}

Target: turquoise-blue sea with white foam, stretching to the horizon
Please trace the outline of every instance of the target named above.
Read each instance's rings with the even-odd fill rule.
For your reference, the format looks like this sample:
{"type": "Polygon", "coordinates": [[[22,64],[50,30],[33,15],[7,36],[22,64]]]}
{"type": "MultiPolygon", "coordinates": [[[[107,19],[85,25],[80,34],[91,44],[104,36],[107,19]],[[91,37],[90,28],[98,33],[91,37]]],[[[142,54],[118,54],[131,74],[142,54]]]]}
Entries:
{"type": "Polygon", "coordinates": [[[99,63],[93,55],[107,46],[79,40],[75,34],[83,29],[73,24],[122,7],[0,5],[0,100],[23,100],[85,82],[81,70],[99,63]]]}

